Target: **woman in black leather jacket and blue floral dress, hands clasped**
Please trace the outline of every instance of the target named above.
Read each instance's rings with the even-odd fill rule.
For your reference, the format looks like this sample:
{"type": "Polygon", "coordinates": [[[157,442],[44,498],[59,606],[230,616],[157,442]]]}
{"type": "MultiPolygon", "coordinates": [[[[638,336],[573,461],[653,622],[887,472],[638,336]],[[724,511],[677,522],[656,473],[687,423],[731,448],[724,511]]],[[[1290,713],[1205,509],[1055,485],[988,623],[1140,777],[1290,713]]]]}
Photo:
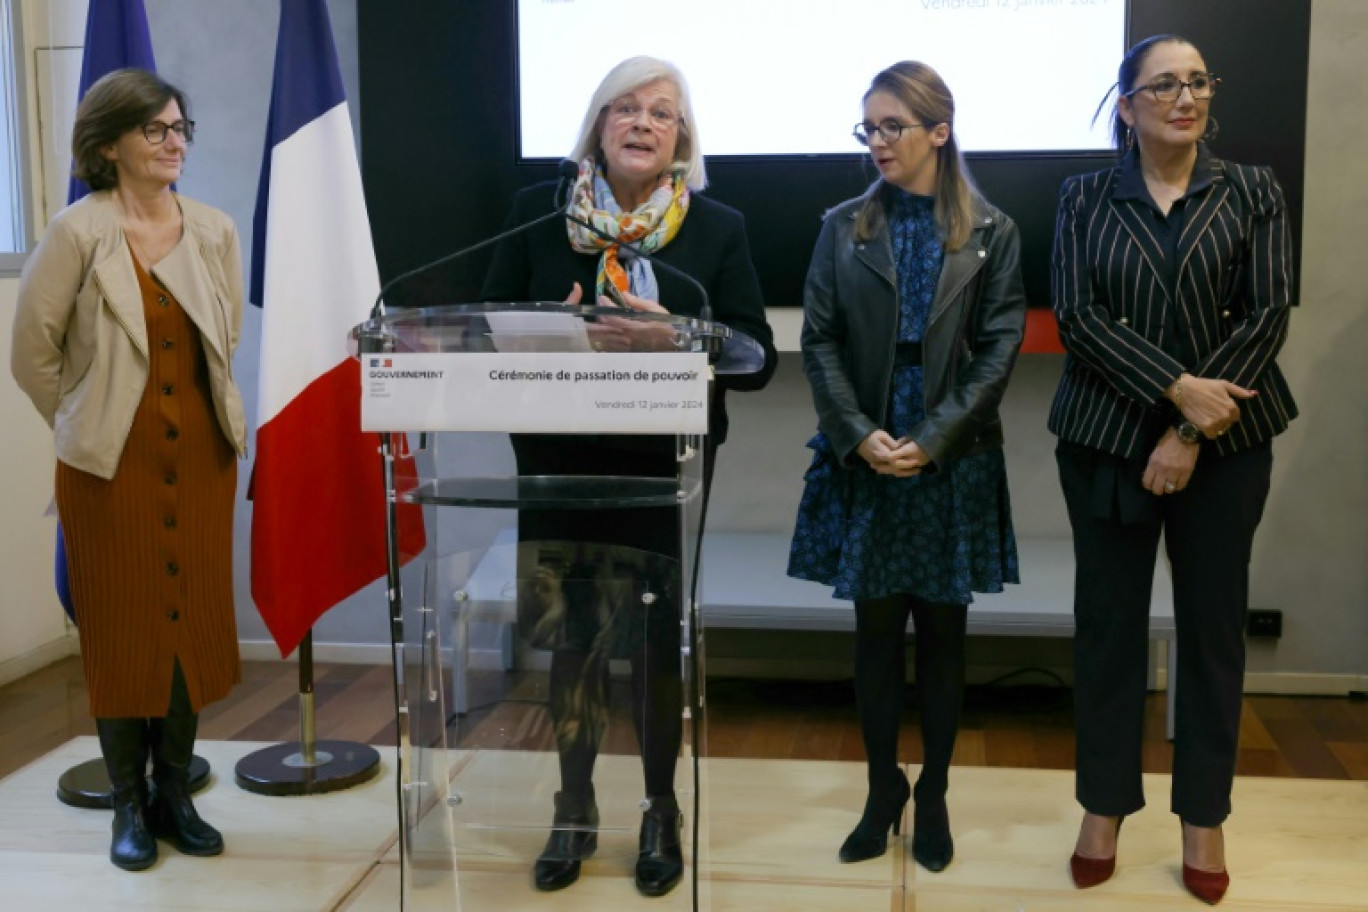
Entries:
{"type": "Polygon", "coordinates": [[[911,789],[897,764],[906,634],[917,630],[923,763],[912,855],[953,856],[945,807],[971,592],[1016,582],[997,417],[1026,298],[1016,227],[964,172],[953,98],[903,62],[865,94],[855,138],[880,180],[828,213],[803,295],[818,435],[789,574],[855,602],[869,797],[843,861],[880,856],[911,789]]]}

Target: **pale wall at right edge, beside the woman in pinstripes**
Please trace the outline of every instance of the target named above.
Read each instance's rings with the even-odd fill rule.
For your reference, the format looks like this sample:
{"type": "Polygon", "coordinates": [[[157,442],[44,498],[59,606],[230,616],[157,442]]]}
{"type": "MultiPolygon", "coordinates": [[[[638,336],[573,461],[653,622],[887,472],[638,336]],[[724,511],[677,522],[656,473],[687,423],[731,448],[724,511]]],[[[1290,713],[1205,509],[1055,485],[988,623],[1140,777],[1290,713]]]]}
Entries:
{"type": "MultiPolygon", "coordinates": [[[[1301,406],[1275,448],[1253,603],[1283,607],[1254,671],[1368,680],[1368,4],[1312,4],[1301,308],[1279,362],[1301,406]]],[[[1274,127],[1276,129],[1276,127],[1274,127]]]]}

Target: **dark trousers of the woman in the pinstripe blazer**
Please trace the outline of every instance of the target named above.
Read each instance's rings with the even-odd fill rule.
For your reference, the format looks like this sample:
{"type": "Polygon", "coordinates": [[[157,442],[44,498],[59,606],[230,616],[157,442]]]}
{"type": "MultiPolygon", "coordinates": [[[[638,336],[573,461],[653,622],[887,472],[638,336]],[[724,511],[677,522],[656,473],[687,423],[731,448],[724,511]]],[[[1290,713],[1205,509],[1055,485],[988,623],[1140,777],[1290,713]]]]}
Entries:
{"type": "Polygon", "coordinates": [[[1204,448],[1187,488],[1127,510],[1142,462],[1060,443],[1074,529],[1078,803],[1116,816],[1145,805],[1141,741],[1149,598],[1163,532],[1174,578],[1178,670],[1171,808],[1194,826],[1230,815],[1245,675],[1249,558],[1272,473],[1263,443],[1204,448]],[[1109,495],[1108,484],[1118,491],[1109,495]]]}

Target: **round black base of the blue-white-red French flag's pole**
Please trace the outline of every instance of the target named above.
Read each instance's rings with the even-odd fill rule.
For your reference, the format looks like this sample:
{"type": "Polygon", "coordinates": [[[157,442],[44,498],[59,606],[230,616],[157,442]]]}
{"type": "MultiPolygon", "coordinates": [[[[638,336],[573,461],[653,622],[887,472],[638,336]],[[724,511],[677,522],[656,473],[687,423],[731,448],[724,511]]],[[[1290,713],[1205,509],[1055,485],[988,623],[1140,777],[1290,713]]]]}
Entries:
{"type": "Polygon", "coordinates": [[[315,741],[313,759],[298,741],[274,744],[238,760],[238,786],[256,794],[323,794],[375,778],[380,755],[367,744],[315,741]]]}

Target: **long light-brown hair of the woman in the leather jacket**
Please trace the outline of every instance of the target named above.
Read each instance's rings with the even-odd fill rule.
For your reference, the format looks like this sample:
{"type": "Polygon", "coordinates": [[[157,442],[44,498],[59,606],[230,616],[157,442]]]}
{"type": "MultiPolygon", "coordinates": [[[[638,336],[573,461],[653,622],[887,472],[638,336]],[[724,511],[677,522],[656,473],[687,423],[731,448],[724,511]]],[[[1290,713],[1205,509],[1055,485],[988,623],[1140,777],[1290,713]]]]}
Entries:
{"type": "MultiPolygon", "coordinates": [[[[944,123],[949,138],[936,149],[936,227],[947,250],[959,250],[974,231],[974,200],[978,189],[955,138],[955,98],[940,74],[917,60],[903,60],[881,71],[865,93],[886,92],[902,101],[919,123],[944,123]]],[[[855,217],[855,238],[869,241],[884,227],[884,200],[870,193],[855,217]]]]}

